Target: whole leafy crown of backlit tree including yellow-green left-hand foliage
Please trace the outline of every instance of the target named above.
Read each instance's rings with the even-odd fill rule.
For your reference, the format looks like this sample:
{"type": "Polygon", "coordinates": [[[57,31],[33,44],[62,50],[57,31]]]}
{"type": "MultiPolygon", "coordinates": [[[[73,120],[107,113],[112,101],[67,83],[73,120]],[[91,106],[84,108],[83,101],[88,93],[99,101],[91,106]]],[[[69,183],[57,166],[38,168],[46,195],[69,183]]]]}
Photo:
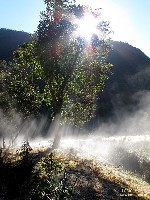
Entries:
{"type": "Polygon", "coordinates": [[[13,94],[23,112],[31,105],[50,107],[51,118],[82,127],[95,113],[96,95],[104,88],[111,64],[106,62],[110,50],[109,23],[101,19],[100,10],[76,5],[69,0],[45,0],[46,11],[32,43],[22,45],[13,60],[13,94]],[[90,41],[75,36],[78,25],[89,12],[100,19],[90,41]],[[15,75],[17,74],[17,76],[15,75]]]}

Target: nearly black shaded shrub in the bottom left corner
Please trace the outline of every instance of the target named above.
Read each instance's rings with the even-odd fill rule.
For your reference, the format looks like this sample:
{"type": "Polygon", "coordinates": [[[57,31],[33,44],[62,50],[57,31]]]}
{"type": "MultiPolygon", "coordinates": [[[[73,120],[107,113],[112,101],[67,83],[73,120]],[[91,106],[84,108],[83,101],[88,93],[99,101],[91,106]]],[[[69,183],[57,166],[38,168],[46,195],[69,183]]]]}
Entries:
{"type": "Polygon", "coordinates": [[[0,199],[20,198],[22,186],[30,181],[33,166],[31,147],[28,142],[25,142],[15,155],[9,148],[1,149],[0,199]]]}

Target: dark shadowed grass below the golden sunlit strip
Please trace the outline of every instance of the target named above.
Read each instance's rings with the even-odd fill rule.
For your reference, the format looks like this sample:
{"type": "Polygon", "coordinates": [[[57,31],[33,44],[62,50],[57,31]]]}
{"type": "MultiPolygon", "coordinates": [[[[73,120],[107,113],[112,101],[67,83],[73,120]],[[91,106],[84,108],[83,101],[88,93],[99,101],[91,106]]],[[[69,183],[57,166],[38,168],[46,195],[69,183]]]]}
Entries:
{"type": "MultiPolygon", "coordinates": [[[[77,184],[74,187],[72,200],[137,200],[138,195],[128,190],[129,186],[122,183],[115,183],[102,178],[85,166],[76,166],[68,170],[69,183],[76,178],[77,184]]],[[[141,200],[144,198],[140,198],[141,200]]]]}

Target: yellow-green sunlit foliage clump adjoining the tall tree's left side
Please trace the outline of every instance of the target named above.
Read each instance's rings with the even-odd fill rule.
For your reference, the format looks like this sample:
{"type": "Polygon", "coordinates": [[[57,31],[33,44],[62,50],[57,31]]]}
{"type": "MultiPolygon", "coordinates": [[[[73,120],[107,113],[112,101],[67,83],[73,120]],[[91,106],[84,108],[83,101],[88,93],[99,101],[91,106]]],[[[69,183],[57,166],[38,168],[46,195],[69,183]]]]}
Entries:
{"type": "Polygon", "coordinates": [[[25,117],[38,112],[41,105],[42,68],[34,52],[34,43],[25,43],[14,53],[9,72],[9,92],[25,117]]]}

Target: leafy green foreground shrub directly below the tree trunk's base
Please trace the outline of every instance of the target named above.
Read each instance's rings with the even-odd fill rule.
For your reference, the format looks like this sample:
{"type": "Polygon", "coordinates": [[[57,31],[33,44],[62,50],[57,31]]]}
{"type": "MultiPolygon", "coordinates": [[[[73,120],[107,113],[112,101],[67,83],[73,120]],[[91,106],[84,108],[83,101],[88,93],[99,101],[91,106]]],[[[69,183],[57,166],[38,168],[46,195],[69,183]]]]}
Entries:
{"type": "Polygon", "coordinates": [[[53,154],[35,166],[30,196],[33,199],[70,199],[72,187],[67,185],[67,173],[53,154]]]}

